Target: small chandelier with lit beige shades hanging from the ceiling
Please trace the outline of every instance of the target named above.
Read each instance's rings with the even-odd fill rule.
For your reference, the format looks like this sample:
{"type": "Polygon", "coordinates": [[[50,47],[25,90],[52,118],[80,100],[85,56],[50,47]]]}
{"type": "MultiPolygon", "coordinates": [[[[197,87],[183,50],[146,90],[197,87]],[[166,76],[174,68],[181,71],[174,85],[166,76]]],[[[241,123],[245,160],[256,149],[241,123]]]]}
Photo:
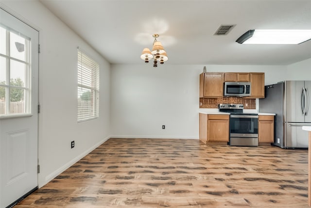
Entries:
{"type": "Polygon", "coordinates": [[[144,48],[141,53],[140,58],[145,60],[145,63],[148,63],[150,59],[154,59],[154,67],[157,67],[157,62],[160,61],[160,64],[163,64],[164,61],[167,61],[169,58],[161,44],[161,42],[157,41],[156,38],[159,37],[158,34],[154,34],[152,37],[155,38],[154,45],[152,51],[149,48],[144,48]]]}

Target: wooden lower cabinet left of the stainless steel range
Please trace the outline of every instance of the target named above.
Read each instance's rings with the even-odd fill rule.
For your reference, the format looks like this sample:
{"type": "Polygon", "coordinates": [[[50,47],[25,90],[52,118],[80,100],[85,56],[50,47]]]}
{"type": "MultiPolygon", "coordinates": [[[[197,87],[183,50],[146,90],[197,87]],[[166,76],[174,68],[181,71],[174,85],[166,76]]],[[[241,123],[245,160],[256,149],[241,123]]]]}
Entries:
{"type": "Polygon", "coordinates": [[[199,136],[205,144],[229,142],[229,115],[199,114],[199,136]]]}

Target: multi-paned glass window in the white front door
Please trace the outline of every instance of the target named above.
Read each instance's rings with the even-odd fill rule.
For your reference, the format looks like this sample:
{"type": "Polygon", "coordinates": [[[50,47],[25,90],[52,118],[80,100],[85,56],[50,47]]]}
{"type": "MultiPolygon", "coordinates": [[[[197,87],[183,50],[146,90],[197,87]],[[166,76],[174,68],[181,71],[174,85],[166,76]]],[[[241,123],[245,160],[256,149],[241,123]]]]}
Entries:
{"type": "Polygon", "coordinates": [[[30,39],[0,26],[0,115],[30,112],[30,39]]]}

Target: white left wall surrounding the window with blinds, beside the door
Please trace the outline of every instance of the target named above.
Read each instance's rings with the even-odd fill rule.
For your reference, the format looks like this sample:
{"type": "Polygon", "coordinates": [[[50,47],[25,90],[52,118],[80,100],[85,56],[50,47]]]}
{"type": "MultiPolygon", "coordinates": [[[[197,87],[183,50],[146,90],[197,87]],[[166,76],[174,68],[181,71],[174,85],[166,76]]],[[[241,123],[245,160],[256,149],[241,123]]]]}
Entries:
{"type": "Polygon", "coordinates": [[[39,1],[1,1],[39,29],[39,187],[110,135],[110,64],[39,1]],[[100,118],[77,123],[77,47],[100,63],[100,118]],[[75,148],[70,149],[70,141],[75,148]]]}

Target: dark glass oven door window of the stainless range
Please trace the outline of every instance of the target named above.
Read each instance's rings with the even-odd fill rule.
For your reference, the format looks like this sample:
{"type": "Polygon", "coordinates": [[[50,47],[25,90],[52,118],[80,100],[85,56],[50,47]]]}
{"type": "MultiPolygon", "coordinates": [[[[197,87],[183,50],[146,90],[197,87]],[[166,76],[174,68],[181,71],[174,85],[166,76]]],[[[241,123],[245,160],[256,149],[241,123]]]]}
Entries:
{"type": "Polygon", "coordinates": [[[230,133],[258,134],[258,118],[231,118],[230,133]]]}

